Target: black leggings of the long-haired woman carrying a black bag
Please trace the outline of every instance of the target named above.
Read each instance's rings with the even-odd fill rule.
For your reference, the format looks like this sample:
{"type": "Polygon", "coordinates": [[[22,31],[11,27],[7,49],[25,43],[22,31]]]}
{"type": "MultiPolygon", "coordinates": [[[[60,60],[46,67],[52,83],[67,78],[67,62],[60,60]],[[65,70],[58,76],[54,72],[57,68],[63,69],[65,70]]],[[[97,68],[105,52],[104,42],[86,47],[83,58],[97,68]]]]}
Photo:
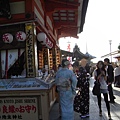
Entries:
{"type": "MultiPolygon", "coordinates": [[[[104,96],[104,101],[106,103],[108,115],[110,115],[110,104],[108,102],[108,94],[107,93],[103,93],[103,96],[104,96]]],[[[99,110],[102,111],[102,109],[101,109],[101,94],[97,96],[97,99],[98,99],[99,110]]]]}

